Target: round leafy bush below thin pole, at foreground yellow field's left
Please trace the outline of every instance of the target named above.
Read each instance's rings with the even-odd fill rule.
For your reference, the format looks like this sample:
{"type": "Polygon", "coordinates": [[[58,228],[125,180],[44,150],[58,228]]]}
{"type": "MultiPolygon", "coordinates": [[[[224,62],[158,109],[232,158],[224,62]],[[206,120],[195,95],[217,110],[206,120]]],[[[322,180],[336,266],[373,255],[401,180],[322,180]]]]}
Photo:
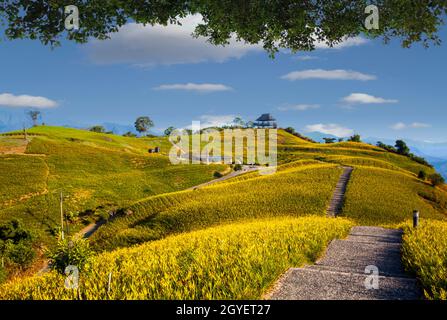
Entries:
{"type": "Polygon", "coordinates": [[[93,251],[86,239],[59,240],[56,247],[47,252],[50,268],[64,274],[65,268],[73,265],[80,271],[88,264],[93,251]]]}

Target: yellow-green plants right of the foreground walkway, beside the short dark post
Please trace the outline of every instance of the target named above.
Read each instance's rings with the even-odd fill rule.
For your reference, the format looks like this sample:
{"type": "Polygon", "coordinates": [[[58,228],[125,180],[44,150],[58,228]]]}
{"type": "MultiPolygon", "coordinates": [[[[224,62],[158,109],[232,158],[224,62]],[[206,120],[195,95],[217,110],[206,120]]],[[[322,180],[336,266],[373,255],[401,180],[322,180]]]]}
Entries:
{"type": "Polygon", "coordinates": [[[402,260],[420,280],[425,297],[447,300],[447,222],[422,220],[417,229],[406,225],[402,260]]]}

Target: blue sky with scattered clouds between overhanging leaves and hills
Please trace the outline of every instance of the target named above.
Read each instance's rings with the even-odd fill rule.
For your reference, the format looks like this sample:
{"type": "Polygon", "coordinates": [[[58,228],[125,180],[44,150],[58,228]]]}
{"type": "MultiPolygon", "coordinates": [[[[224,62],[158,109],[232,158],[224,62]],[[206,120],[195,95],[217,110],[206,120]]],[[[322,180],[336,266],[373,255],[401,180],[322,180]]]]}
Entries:
{"type": "Polygon", "coordinates": [[[148,115],[155,131],[270,112],[303,133],[447,141],[447,44],[403,49],[356,38],[271,59],[257,46],[193,39],[195,22],[129,24],[111,40],[53,50],[1,41],[0,122],[23,122],[29,105],[47,124],[131,125],[148,115]]]}

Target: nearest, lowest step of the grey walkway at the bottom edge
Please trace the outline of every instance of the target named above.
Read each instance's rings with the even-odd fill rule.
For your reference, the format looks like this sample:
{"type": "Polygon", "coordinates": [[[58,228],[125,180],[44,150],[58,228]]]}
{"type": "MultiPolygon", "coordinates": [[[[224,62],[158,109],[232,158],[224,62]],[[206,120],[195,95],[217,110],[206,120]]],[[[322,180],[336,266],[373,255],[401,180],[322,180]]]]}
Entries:
{"type": "Polygon", "coordinates": [[[417,300],[416,280],[379,277],[378,289],[366,289],[368,275],[308,268],[289,269],[273,291],[273,300],[417,300]]]}

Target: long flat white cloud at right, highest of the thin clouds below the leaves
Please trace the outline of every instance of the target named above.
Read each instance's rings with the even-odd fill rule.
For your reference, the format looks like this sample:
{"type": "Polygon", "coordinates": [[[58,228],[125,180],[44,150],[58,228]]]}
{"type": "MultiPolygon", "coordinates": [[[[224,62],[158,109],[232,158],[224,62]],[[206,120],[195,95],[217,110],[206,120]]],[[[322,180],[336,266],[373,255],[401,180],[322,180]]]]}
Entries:
{"type": "Polygon", "coordinates": [[[290,81],[308,80],[308,79],[369,81],[369,80],[375,80],[376,76],[352,70],[311,69],[311,70],[293,71],[282,76],[281,79],[290,81]]]}

